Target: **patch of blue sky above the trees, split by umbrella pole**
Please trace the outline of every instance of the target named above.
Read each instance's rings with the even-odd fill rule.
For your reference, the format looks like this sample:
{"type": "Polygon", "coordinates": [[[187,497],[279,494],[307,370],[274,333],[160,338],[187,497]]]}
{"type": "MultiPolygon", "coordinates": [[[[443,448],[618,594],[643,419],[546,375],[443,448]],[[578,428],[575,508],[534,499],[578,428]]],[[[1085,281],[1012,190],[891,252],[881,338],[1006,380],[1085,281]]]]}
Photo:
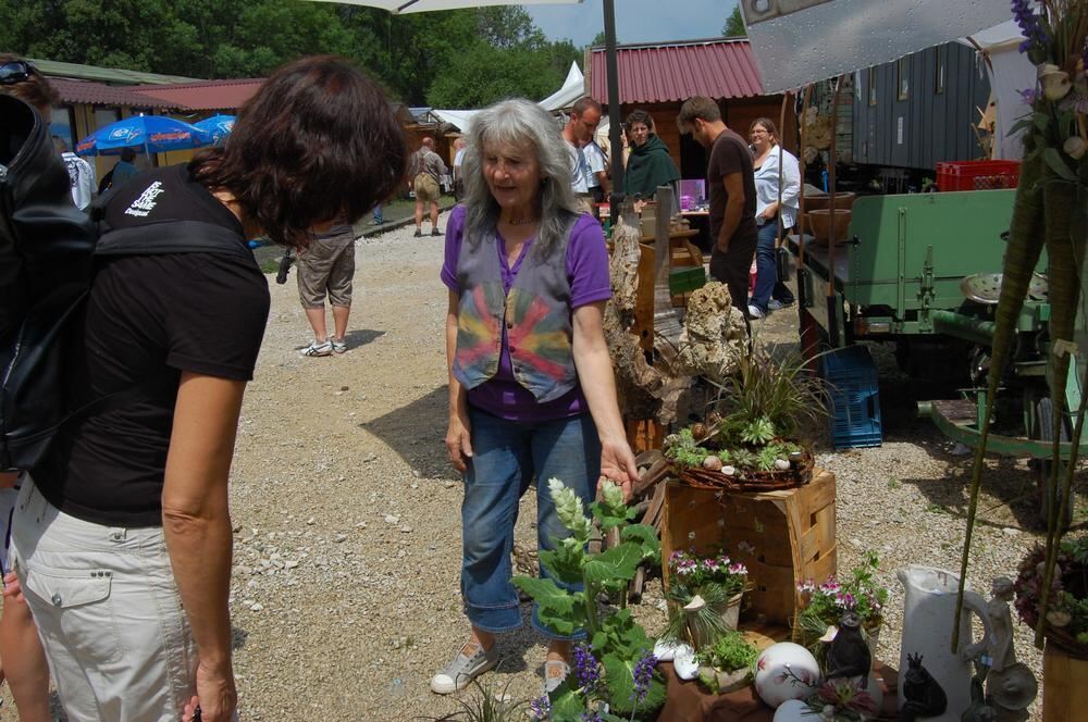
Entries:
{"type": "MultiPolygon", "coordinates": [[[[604,29],[602,0],[577,5],[526,5],[551,39],[588,45],[604,29]]],[[[616,0],[616,36],[620,42],[691,40],[721,34],[734,0],[616,0]]]]}

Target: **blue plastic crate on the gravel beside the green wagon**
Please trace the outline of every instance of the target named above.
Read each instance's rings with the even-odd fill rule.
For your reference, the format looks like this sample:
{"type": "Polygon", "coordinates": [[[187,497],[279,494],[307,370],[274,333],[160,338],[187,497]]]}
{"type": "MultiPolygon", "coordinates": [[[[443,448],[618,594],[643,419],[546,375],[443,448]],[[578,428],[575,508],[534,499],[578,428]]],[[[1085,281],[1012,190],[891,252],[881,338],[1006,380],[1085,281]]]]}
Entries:
{"type": "Polygon", "coordinates": [[[828,421],[836,449],[880,446],[880,394],[868,348],[851,346],[821,357],[827,382],[828,421]]]}

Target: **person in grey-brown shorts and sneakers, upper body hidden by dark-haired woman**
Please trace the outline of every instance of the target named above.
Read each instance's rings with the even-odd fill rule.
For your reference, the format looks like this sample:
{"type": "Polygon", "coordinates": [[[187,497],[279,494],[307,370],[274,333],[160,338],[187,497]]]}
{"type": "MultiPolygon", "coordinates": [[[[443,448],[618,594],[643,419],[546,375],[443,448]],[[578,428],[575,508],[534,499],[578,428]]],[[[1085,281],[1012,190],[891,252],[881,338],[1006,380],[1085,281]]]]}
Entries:
{"type": "Polygon", "coordinates": [[[355,231],[343,220],[298,254],[298,298],[313,328],[313,340],[302,356],[331,356],[347,351],[347,319],[351,313],[351,279],[355,277],[355,231]],[[333,335],[325,327],[325,297],[333,307],[333,335]]]}

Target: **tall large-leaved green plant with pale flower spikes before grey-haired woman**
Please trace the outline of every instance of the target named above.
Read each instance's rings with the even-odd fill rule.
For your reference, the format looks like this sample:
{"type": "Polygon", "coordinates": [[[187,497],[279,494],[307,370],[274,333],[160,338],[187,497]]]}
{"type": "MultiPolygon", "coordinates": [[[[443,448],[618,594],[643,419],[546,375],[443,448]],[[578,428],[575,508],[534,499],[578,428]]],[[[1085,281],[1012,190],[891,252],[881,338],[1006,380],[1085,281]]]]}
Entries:
{"type": "MultiPolygon", "coordinates": [[[[606,722],[628,719],[653,719],[665,704],[665,685],[653,670],[647,652],[653,639],[627,609],[626,596],[618,609],[602,609],[598,596],[608,588],[632,580],[639,564],[660,553],[657,532],[644,524],[631,524],[636,511],[623,502],[622,490],[610,482],[602,486],[602,499],[590,506],[594,519],[605,532],[618,530],[620,544],[599,553],[588,550],[593,524],[585,515],[582,500],[557,478],[548,481],[556,513],[570,536],[556,540],[556,548],[540,553],[541,564],[552,578],[515,576],[514,584],[540,606],[540,619],[557,633],[570,636],[584,630],[590,649],[604,670],[603,680],[593,685],[580,684],[571,674],[548,699],[551,719],[580,720],[595,713],[606,722]],[[581,584],[579,592],[559,587],[581,584]],[[609,712],[603,711],[607,705],[609,712]],[[621,717],[617,717],[617,714],[621,717]]],[[[656,660],[654,660],[656,662],[656,660]]]]}

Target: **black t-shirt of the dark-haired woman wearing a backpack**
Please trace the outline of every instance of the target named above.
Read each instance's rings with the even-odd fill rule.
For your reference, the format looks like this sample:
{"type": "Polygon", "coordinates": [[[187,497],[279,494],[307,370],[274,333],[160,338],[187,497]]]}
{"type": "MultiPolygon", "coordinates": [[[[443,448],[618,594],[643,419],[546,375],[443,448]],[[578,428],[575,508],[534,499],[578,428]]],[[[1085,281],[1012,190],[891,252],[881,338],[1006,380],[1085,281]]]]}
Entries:
{"type": "MultiPolygon", "coordinates": [[[[245,244],[238,220],[184,166],[144,173],[120,189],[104,215],[118,229],[171,219],[222,226],[245,244]]],[[[144,390],[140,400],[61,435],[34,481],[53,506],[78,519],[159,526],[181,373],[252,378],[268,321],[268,281],[251,257],[222,253],[99,262],[81,358],[72,359],[73,395],[144,390]]]]}

